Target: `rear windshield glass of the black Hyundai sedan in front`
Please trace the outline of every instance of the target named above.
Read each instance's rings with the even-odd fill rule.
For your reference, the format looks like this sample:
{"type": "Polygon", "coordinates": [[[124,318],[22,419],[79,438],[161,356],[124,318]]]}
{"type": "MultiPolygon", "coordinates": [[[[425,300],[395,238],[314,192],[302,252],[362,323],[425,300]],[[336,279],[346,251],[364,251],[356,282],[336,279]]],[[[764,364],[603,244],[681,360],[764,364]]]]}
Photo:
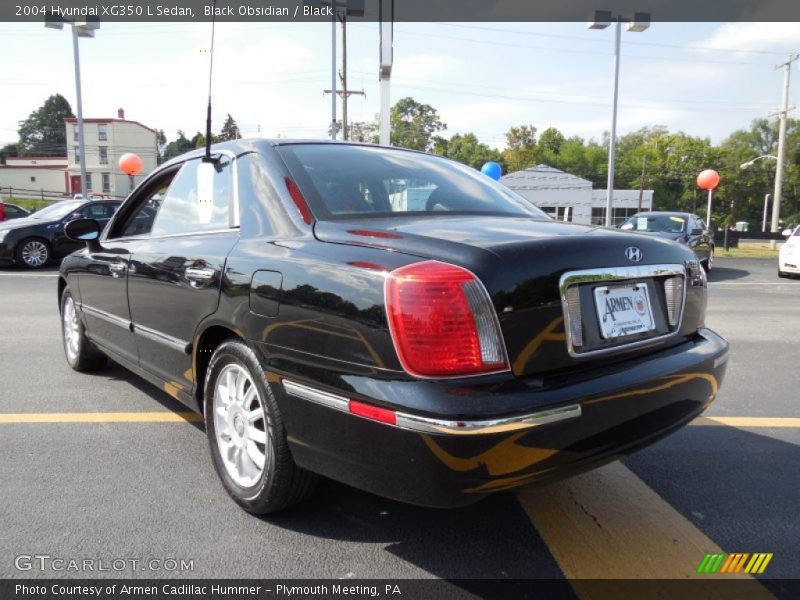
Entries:
{"type": "Polygon", "coordinates": [[[549,219],[475,169],[428,154],[341,144],[278,152],[320,219],[448,212],[549,219]]]}

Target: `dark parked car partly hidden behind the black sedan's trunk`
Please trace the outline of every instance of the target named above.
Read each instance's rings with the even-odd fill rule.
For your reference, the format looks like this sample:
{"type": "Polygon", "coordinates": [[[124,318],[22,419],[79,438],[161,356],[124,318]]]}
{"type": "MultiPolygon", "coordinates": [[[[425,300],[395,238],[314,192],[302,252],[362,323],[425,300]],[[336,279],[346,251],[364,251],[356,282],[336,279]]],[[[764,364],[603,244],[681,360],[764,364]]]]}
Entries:
{"type": "Polygon", "coordinates": [[[641,212],[625,221],[620,229],[673,240],[694,250],[706,271],[714,266],[714,235],[697,215],[667,211],[641,212]]]}

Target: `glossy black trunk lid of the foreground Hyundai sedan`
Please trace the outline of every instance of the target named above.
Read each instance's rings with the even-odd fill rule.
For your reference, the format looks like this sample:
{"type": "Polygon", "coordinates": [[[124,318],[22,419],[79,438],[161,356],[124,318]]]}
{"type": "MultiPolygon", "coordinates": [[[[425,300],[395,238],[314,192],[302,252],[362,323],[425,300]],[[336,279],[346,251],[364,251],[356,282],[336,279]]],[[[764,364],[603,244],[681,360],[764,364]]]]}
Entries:
{"type": "MultiPolygon", "coordinates": [[[[315,224],[315,235],[325,242],[383,248],[471,270],[492,298],[512,371],[518,376],[574,371],[630,358],[630,353],[613,350],[570,354],[559,288],[562,275],[588,269],[684,265],[694,258],[691,250],[660,236],[524,217],[426,215],[320,221],[315,224]],[[630,247],[640,251],[638,261],[627,258],[630,247]]],[[[666,310],[663,280],[645,276],[635,279],[648,286],[651,310],[658,313],[662,329],[664,319],[659,315],[666,310]]],[[[578,302],[586,333],[594,336],[593,347],[608,349],[618,342],[598,339],[599,317],[593,314],[593,298],[594,288],[600,285],[606,284],[582,285],[578,302]]],[[[690,330],[689,308],[684,309],[682,331],[690,330]]],[[[640,337],[655,337],[655,333],[640,337]]],[[[648,349],[675,343],[675,339],[664,339],[648,345],[648,349]]]]}

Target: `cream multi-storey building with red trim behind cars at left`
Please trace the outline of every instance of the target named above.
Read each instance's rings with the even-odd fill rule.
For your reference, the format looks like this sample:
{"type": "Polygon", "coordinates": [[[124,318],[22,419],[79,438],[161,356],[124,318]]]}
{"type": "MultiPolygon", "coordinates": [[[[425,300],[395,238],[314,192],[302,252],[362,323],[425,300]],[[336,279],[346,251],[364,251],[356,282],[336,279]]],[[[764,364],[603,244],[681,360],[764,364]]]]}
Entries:
{"type": "MultiPolygon", "coordinates": [[[[14,195],[53,198],[81,193],[80,146],[78,124],[74,117],[65,119],[66,157],[8,157],[0,165],[0,188],[12,188],[14,195]]],[[[86,180],[88,193],[125,197],[146,177],[157,163],[156,131],[137,121],[125,119],[120,108],[116,119],[84,119],[86,136],[86,180]],[[142,170],[129,177],[119,168],[119,158],[132,152],[142,159],[142,170]]]]}

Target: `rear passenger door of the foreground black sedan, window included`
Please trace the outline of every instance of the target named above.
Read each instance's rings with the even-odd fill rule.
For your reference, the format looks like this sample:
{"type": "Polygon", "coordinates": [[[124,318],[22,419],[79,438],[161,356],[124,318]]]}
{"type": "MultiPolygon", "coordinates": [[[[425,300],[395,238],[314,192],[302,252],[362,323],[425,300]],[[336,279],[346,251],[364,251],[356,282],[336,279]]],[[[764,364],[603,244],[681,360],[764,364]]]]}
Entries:
{"type": "MultiPolygon", "coordinates": [[[[184,392],[193,384],[191,347],[200,322],[219,302],[225,260],[239,239],[234,159],[215,163],[214,202],[197,198],[197,167],[183,164],[151,211],[149,234],[131,248],[128,303],[139,364],[184,392]]],[[[144,222],[148,217],[142,218],[144,222]]],[[[132,226],[136,227],[136,219],[132,226]]]]}

